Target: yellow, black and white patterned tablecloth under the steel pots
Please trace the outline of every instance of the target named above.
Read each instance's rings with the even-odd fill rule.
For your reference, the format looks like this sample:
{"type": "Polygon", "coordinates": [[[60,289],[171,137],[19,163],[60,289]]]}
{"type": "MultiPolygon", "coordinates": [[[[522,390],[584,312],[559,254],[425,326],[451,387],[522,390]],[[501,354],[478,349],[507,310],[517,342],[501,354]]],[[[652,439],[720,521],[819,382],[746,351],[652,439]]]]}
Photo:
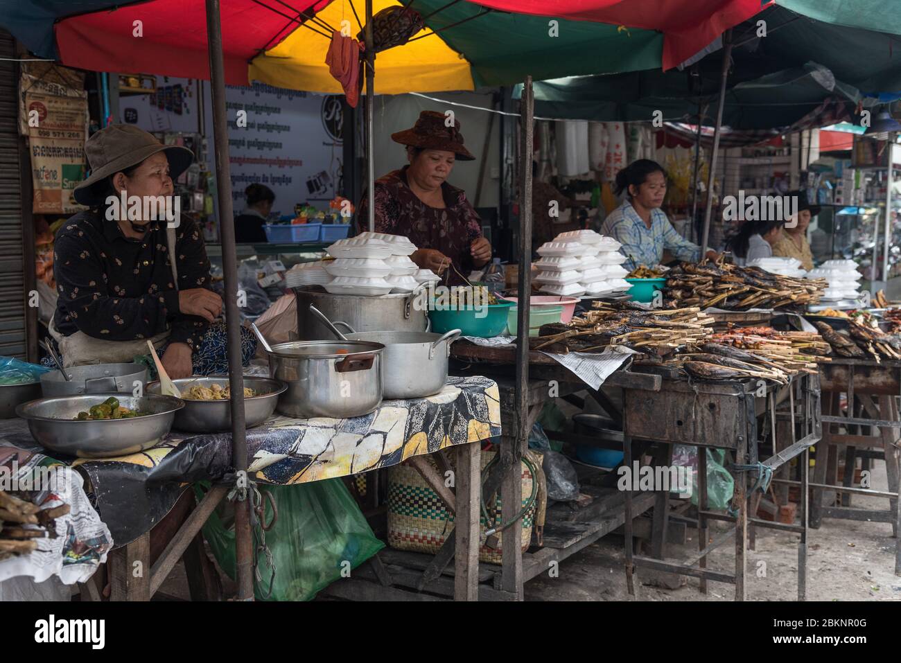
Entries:
{"type": "MultiPolygon", "coordinates": [[[[384,401],[351,419],[273,416],[247,431],[250,470],[278,485],[346,477],[421,454],[500,434],[497,385],[487,377],[449,377],[436,395],[384,401]]],[[[23,420],[0,422],[0,447],[41,451],[23,420]]],[[[149,531],[186,486],[233,474],[231,433],[172,431],[156,447],[110,459],[59,459],[87,479],[116,546],[149,531]]]]}

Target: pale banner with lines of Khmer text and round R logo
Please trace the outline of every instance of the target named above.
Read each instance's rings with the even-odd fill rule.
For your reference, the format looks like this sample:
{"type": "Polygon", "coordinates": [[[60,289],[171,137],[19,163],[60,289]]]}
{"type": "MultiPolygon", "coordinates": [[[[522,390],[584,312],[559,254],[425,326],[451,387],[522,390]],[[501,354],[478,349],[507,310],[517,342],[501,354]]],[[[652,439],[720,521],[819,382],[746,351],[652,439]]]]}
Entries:
{"type": "MultiPolygon", "coordinates": [[[[208,98],[208,97],[205,97],[208,98]]],[[[341,96],[314,95],[262,84],[226,86],[232,207],[241,213],[253,183],[276,195],[272,218],[298,203],[328,211],[341,191],[341,96]]],[[[213,126],[206,109],[206,126],[213,126]]],[[[210,141],[210,164],[214,163],[210,141]]]]}

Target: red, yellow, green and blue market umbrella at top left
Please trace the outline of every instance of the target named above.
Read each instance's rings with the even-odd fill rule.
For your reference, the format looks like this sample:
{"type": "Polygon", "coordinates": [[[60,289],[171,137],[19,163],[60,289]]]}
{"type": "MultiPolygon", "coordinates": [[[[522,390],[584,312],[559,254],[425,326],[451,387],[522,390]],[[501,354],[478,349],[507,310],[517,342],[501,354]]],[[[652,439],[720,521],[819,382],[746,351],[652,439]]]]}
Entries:
{"type": "MultiPolygon", "coordinates": [[[[346,21],[356,35],[363,5],[363,0],[223,3],[226,81],[340,92],[325,65],[331,29],[340,30],[346,21]]],[[[375,0],[373,12],[400,5],[375,0]]],[[[413,0],[413,6],[426,27],[403,46],[378,53],[377,94],[512,85],[526,74],[550,78],[660,67],[659,32],[562,19],[549,26],[547,18],[462,0],[413,0]]],[[[197,0],[125,5],[121,0],[2,0],[0,24],[37,55],[70,67],[209,76],[204,5],[197,0]]]]}

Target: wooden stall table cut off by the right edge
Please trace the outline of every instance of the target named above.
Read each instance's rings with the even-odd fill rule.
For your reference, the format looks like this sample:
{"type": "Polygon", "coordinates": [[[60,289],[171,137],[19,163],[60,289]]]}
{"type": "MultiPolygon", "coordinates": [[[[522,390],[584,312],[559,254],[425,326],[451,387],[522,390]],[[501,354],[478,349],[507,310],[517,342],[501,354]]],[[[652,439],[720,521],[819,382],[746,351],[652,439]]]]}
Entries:
{"type": "Polygon", "coordinates": [[[814,501],[810,509],[810,526],[819,528],[823,518],[852,521],[890,522],[895,544],[895,574],[901,576],[901,545],[897,536],[901,529],[898,508],[898,440],[901,417],[898,395],[901,395],[901,361],[882,359],[834,358],[820,366],[823,385],[823,441],[816,454],[814,501]],[[842,415],[840,399],[847,399],[847,414],[842,415]],[[833,432],[833,425],[843,425],[845,432],[833,432]],[[852,430],[857,429],[857,430],[852,430]],[[844,451],[844,477],[839,485],[838,459],[844,451]],[[873,459],[886,461],[888,490],[855,487],[856,459],[862,458],[863,469],[873,459]],[[836,493],[842,495],[837,506],[836,493]],[[851,506],[852,495],[871,495],[888,500],[888,509],[864,509],[851,506]]]}

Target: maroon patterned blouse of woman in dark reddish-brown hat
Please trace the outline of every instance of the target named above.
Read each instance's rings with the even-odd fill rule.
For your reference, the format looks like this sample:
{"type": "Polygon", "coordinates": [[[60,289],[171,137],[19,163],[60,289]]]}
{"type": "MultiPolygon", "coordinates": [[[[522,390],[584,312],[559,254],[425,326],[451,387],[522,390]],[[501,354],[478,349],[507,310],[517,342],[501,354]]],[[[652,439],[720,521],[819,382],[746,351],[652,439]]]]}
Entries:
{"type": "MultiPolygon", "coordinates": [[[[453,261],[454,268],[469,277],[475,268],[469,246],[482,236],[482,221],[466,199],[462,189],[447,182],[441,185],[444,209],[423,203],[407,184],[405,166],[376,180],[376,232],[388,232],[409,238],[420,249],[441,251],[453,261]]],[[[364,193],[357,208],[359,232],[369,230],[369,198],[364,193]]],[[[450,269],[443,281],[449,286],[464,283],[450,269]]]]}

